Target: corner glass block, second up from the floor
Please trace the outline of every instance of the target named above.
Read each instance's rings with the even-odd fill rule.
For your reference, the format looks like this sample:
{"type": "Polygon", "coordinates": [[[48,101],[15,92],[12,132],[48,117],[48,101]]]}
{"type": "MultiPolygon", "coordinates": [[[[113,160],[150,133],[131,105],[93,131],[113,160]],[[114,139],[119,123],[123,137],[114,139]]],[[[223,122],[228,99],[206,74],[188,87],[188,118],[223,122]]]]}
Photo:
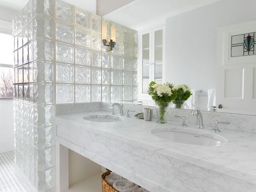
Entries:
{"type": "Polygon", "coordinates": [[[45,169],[54,165],[55,148],[34,148],[34,164],[36,168],[45,169]]]}

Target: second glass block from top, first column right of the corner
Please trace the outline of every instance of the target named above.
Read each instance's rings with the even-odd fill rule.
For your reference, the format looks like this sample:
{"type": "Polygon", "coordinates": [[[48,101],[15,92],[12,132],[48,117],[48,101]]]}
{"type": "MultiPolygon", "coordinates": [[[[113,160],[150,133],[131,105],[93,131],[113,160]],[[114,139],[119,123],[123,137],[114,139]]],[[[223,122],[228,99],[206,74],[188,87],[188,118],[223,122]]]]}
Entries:
{"type": "Polygon", "coordinates": [[[73,29],[71,25],[65,25],[60,22],[56,22],[56,39],[72,43],[73,42],[73,29]]]}

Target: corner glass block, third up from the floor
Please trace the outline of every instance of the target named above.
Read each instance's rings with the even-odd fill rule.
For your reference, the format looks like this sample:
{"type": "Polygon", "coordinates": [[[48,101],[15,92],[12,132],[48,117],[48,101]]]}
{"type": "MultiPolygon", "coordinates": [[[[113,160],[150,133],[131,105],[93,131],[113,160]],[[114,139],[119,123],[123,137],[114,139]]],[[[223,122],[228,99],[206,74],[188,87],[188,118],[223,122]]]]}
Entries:
{"type": "Polygon", "coordinates": [[[37,148],[45,148],[54,145],[54,128],[34,127],[34,145],[37,148]]]}

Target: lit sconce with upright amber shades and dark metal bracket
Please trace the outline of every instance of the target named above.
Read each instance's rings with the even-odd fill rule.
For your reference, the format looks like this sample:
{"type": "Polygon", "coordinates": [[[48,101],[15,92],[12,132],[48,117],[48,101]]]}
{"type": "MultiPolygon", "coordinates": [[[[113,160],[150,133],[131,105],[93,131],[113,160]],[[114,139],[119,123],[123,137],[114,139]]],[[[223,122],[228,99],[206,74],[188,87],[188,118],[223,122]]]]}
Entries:
{"type": "Polygon", "coordinates": [[[107,40],[107,23],[102,25],[102,43],[104,46],[108,46],[108,51],[112,51],[116,45],[116,27],[111,26],[111,37],[107,40]]]}

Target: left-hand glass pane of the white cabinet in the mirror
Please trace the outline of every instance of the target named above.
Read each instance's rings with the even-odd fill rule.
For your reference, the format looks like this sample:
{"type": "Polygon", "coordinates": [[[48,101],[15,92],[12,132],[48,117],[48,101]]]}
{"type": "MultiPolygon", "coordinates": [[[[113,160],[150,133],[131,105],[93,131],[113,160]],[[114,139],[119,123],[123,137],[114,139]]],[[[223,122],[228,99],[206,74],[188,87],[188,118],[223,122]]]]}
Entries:
{"type": "Polygon", "coordinates": [[[143,86],[143,94],[148,93],[148,84],[149,84],[149,80],[150,80],[150,73],[151,73],[151,69],[150,69],[150,34],[149,33],[145,33],[142,35],[142,74],[143,74],[143,82],[142,82],[142,86],[143,86]]]}

